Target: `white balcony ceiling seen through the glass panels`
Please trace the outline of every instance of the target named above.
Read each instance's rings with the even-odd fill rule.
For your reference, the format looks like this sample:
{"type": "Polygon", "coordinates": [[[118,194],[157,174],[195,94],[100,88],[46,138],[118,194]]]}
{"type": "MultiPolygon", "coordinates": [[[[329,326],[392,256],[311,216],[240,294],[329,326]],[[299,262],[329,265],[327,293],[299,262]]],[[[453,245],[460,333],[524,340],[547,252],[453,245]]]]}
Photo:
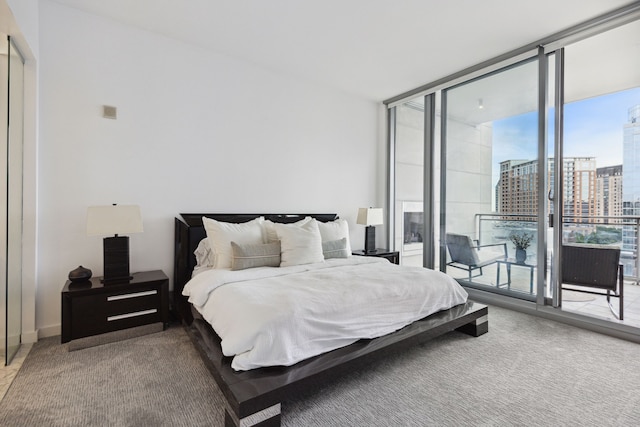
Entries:
{"type": "MultiPolygon", "coordinates": [[[[555,58],[550,57],[549,61],[549,69],[553,70],[555,58]]],[[[565,103],[640,87],[640,20],[567,45],[564,68],[565,103]]],[[[548,87],[548,99],[553,100],[553,71],[549,72],[548,87]]],[[[412,100],[415,105],[421,101],[412,100]]],[[[447,114],[469,124],[537,109],[537,61],[461,84],[447,95],[447,114]]]]}

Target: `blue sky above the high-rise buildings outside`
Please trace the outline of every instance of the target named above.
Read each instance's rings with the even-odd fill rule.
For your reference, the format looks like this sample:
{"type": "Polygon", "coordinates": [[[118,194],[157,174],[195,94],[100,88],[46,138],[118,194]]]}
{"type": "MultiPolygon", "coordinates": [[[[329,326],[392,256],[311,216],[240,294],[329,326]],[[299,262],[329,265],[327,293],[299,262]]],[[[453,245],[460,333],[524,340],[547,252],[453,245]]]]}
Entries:
{"type": "MultiPolygon", "coordinates": [[[[622,164],[622,141],[628,110],[640,104],[640,88],[588,98],[565,105],[565,157],[595,157],[596,166],[622,164]]],[[[550,118],[551,124],[553,118],[550,118]]],[[[527,113],[493,122],[493,183],[499,164],[509,159],[535,159],[537,114],[527,113]]],[[[549,135],[552,141],[553,133],[549,135]]],[[[549,155],[552,156],[553,148],[549,155]]]]}

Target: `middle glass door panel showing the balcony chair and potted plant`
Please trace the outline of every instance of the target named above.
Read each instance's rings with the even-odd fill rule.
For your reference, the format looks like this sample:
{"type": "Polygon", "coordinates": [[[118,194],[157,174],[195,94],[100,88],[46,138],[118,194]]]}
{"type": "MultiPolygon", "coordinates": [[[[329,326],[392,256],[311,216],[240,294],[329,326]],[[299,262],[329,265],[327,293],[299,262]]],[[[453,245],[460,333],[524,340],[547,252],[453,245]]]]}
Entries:
{"type": "Polygon", "coordinates": [[[544,269],[537,250],[538,61],[442,94],[441,270],[467,286],[533,300],[544,269]]]}

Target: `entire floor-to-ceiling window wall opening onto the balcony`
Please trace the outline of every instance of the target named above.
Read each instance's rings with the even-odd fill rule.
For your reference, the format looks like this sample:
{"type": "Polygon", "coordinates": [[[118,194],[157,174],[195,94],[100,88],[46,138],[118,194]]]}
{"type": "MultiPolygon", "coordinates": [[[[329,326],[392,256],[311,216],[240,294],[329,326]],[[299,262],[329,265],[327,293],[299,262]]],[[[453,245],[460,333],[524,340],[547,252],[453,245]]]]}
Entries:
{"type": "Polygon", "coordinates": [[[439,268],[487,301],[640,340],[638,46],[632,5],[390,100],[390,234],[403,264],[439,268]],[[441,99],[431,116],[430,96],[441,99]],[[441,120],[432,139],[429,117],[441,120]],[[430,221],[432,241],[417,244],[430,221]],[[410,257],[428,245],[433,265],[410,257]],[[567,245],[619,250],[623,320],[617,297],[565,287],[567,245]]]}

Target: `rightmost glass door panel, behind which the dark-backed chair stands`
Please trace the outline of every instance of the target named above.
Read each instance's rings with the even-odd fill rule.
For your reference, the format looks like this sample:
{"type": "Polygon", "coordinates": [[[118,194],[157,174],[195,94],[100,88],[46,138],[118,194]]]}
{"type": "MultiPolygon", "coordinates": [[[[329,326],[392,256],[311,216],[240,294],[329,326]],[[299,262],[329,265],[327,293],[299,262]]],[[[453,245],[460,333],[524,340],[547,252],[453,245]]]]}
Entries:
{"type": "MultiPolygon", "coordinates": [[[[624,268],[623,308],[603,291],[560,285],[554,304],[640,326],[640,21],[569,44],[562,66],[562,245],[615,248],[624,268]],[[597,293],[575,292],[572,289],[597,293]]],[[[559,230],[559,231],[560,231],[559,230]]],[[[561,255],[560,269],[570,260],[561,255]]]]}

